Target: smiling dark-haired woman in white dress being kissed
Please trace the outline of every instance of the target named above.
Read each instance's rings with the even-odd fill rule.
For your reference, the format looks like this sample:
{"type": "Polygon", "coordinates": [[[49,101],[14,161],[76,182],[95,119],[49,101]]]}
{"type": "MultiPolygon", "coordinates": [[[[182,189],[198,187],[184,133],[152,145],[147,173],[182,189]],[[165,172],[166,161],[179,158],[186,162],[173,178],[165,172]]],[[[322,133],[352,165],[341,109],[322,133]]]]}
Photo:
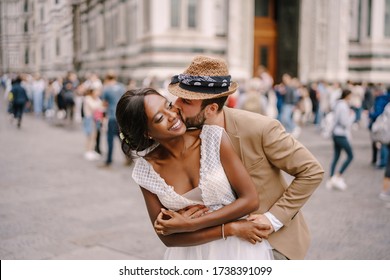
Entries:
{"type": "Polygon", "coordinates": [[[258,236],[255,223],[236,223],[240,228],[236,231],[229,224],[225,227],[256,210],[259,200],[223,128],[205,125],[187,131],[179,110],[151,88],[126,92],[116,115],[125,154],[146,150],[136,160],[133,178],[141,187],[152,223],[160,220],[160,210],[167,208],[163,214],[176,225],[175,231],[156,230],[169,247],[165,259],[272,258],[271,247],[258,236]],[[183,219],[174,212],[199,204],[209,213],[183,219]],[[197,230],[205,229],[201,234],[207,235],[208,228],[217,225],[222,239],[199,237],[197,230]],[[245,231],[247,227],[252,230],[245,231]],[[172,235],[177,232],[186,234],[172,235]]]}

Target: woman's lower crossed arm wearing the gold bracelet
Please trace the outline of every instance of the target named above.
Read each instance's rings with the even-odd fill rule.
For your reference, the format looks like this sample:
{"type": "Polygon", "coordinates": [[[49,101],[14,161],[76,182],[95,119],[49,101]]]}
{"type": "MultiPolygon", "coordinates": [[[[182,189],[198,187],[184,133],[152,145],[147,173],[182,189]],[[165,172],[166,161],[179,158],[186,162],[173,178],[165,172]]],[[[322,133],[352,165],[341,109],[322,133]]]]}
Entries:
{"type": "MultiPolygon", "coordinates": [[[[141,191],[145,199],[149,218],[153,224],[156,221],[156,218],[159,215],[160,210],[163,206],[155,194],[142,187],[141,191]]],[[[268,225],[260,225],[251,221],[240,220],[237,222],[225,224],[224,236],[229,237],[234,235],[254,244],[256,242],[261,241],[262,238],[265,238],[265,236],[263,236],[263,232],[268,229],[268,225]]],[[[221,239],[222,226],[219,225],[194,232],[176,233],[171,235],[158,234],[158,237],[167,247],[185,247],[200,245],[210,241],[221,239]]]]}

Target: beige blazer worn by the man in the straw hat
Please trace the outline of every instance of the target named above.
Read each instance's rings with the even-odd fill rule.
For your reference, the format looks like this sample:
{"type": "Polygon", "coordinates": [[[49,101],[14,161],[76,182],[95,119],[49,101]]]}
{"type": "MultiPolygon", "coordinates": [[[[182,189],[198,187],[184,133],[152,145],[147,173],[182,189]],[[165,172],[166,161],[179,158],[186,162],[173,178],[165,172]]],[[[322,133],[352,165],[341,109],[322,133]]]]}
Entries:
{"type": "Polygon", "coordinates": [[[270,244],[289,259],[304,259],[310,233],[300,211],[322,181],[324,170],[314,156],[279,121],[224,107],[225,129],[259,194],[257,213],[270,211],[283,227],[270,244]],[[293,176],[290,185],[282,174],[293,176]]]}

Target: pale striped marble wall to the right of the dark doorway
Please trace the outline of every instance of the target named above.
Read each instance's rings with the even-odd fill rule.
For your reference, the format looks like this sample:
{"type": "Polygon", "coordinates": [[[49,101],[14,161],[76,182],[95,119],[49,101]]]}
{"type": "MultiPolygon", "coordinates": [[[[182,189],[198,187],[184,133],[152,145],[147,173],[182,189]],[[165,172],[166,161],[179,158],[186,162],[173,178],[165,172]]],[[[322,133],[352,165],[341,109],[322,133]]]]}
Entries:
{"type": "Polygon", "coordinates": [[[390,83],[389,0],[301,0],[301,14],[301,80],[390,83]]]}

